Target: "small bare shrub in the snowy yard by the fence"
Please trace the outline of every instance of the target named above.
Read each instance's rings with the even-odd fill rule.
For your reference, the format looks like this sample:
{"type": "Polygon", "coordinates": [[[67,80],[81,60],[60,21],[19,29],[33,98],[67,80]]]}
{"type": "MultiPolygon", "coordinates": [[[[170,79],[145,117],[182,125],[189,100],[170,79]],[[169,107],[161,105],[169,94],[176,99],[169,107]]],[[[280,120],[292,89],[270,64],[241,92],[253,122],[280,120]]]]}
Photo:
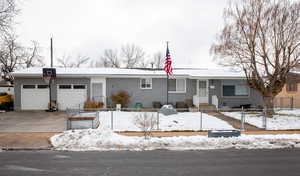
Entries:
{"type": "Polygon", "coordinates": [[[157,125],[157,120],[153,113],[149,114],[149,112],[144,112],[136,115],[133,119],[133,123],[142,130],[145,139],[149,139],[152,135],[154,127],[157,125]]]}

